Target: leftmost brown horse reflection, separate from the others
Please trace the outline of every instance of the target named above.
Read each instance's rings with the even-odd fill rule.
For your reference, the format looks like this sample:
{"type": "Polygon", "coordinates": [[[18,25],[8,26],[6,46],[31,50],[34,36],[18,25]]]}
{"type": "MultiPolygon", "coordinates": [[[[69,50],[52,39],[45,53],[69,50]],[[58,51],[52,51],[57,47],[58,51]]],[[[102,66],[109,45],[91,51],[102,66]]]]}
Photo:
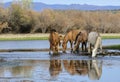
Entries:
{"type": "Polygon", "coordinates": [[[49,71],[51,76],[57,76],[61,70],[61,60],[50,60],[49,71]]]}

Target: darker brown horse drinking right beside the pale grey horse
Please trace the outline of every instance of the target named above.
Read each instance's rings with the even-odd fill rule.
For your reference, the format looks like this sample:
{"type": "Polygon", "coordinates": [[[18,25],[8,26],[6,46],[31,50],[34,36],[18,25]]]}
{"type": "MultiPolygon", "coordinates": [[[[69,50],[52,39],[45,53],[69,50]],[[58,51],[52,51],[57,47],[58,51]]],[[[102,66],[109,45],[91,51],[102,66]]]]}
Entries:
{"type": "Polygon", "coordinates": [[[79,48],[79,44],[82,43],[82,51],[87,50],[87,39],[88,39],[88,33],[85,30],[82,30],[79,32],[76,36],[75,43],[74,43],[74,49],[73,51],[76,51],[77,48],[79,48]]]}

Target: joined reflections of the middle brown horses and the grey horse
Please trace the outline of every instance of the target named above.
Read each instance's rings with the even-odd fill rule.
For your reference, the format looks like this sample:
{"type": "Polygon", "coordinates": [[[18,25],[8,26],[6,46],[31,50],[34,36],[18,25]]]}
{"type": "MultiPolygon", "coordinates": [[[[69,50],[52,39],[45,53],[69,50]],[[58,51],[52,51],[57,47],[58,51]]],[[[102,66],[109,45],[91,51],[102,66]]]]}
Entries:
{"type": "Polygon", "coordinates": [[[97,60],[64,60],[65,69],[72,75],[87,75],[90,79],[100,79],[102,74],[102,61],[97,60]]]}

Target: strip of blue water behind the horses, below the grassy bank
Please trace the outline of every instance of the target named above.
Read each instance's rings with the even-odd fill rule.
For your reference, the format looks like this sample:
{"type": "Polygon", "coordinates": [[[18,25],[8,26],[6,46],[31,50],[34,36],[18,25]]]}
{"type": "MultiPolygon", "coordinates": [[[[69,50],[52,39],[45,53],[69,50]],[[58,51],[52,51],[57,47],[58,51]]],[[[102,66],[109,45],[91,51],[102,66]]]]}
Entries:
{"type": "MultiPolygon", "coordinates": [[[[120,44],[120,39],[103,39],[104,45],[120,44]]],[[[68,43],[68,47],[70,47],[68,43]]],[[[49,48],[48,40],[34,40],[34,41],[0,41],[0,49],[38,49],[49,48]]]]}

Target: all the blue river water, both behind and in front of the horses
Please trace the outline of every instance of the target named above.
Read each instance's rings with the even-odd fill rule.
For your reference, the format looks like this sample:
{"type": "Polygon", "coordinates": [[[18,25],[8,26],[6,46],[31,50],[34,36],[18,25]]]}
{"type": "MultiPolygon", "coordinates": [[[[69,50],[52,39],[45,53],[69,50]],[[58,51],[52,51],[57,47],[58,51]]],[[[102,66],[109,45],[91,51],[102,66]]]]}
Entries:
{"type": "MultiPolygon", "coordinates": [[[[106,39],[103,45],[120,44],[106,39]]],[[[0,41],[0,49],[49,48],[47,40],[0,41]]],[[[68,44],[69,46],[69,44],[68,44]]],[[[48,52],[0,53],[0,82],[120,82],[120,56],[90,58],[48,52]]]]}

